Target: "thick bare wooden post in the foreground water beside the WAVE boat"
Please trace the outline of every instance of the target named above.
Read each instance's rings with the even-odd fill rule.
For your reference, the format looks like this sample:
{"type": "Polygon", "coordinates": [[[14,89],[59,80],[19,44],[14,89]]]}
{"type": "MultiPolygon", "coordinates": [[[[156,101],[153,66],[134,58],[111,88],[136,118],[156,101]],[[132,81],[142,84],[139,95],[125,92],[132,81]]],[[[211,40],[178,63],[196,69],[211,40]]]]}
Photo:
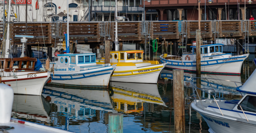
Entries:
{"type": "Polygon", "coordinates": [[[173,70],[174,131],[185,133],[184,70],[173,70]]]}

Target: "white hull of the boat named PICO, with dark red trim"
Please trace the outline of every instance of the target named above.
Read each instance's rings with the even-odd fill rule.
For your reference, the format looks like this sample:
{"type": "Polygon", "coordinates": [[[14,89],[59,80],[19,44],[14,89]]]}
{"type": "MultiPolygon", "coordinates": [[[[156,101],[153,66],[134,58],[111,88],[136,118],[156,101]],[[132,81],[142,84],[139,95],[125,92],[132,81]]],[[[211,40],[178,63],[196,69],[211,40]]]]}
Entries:
{"type": "Polygon", "coordinates": [[[14,94],[41,95],[45,82],[50,78],[51,72],[30,73],[1,77],[2,82],[13,89],[14,94]]]}

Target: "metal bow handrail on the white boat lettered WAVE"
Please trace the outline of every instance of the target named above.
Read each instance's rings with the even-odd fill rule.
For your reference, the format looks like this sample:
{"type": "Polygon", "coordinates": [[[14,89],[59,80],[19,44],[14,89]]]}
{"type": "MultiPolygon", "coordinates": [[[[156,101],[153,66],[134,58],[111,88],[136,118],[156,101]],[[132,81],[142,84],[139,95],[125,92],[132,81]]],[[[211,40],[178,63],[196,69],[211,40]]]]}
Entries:
{"type": "MultiPolygon", "coordinates": [[[[196,77],[194,77],[194,78],[196,78],[196,77]]],[[[198,79],[208,79],[208,78],[198,78],[198,79]]],[[[220,79],[214,79],[214,80],[220,80],[220,79]]],[[[208,80],[207,80],[207,81],[208,81],[208,80]]],[[[222,81],[228,81],[228,80],[222,80],[222,81]]],[[[209,82],[209,81],[208,81],[208,82],[209,82]]],[[[235,82],[235,83],[236,83],[237,81],[231,81],[231,82],[235,82]]],[[[215,97],[214,97],[214,96],[216,96],[216,95],[213,95],[213,94],[210,94],[210,93],[204,91],[203,88],[198,88],[198,87],[196,87],[196,86],[193,84],[192,79],[190,80],[190,83],[191,83],[196,89],[199,89],[199,90],[203,91],[204,93],[207,93],[207,94],[209,94],[209,95],[212,95],[213,98],[214,98],[214,100],[215,100],[215,102],[216,102],[216,104],[217,104],[217,106],[218,106],[218,108],[219,108],[220,111],[221,111],[221,108],[219,107],[219,105],[218,105],[218,103],[217,103],[217,101],[216,101],[216,99],[215,99],[215,97]]],[[[210,83],[210,82],[209,82],[209,83],[210,83]]],[[[238,82],[238,83],[241,83],[241,82],[238,82]]],[[[236,86],[237,86],[237,85],[236,85],[236,86]]],[[[212,87],[212,88],[213,88],[213,87],[212,87]]],[[[194,89],[194,88],[193,88],[193,89],[194,89]]],[[[195,90],[196,90],[196,89],[195,89],[195,90]]],[[[193,92],[194,92],[194,90],[193,90],[193,92]]],[[[215,92],[215,94],[216,94],[216,92],[215,92]]],[[[199,95],[198,95],[198,96],[199,96],[199,95]]],[[[224,98],[221,98],[221,97],[219,97],[219,96],[216,96],[216,97],[218,97],[219,99],[222,99],[222,100],[224,100],[224,101],[231,102],[231,103],[233,103],[233,104],[239,105],[240,108],[241,108],[241,110],[243,111],[243,113],[244,113],[244,115],[245,115],[245,112],[244,112],[244,110],[242,109],[242,107],[245,107],[245,106],[240,105],[240,104],[235,103],[235,102],[232,102],[232,101],[228,101],[228,100],[226,100],[226,99],[224,99],[224,98]],[[241,107],[241,106],[242,106],[242,107],[241,107]]],[[[200,98],[199,98],[199,99],[200,99],[200,98]]],[[[201,100],[200,100],[200,101],[201,101],[201,100]]],[[[202,103],[202,102],[201,102],[201,103],[202,103]]],[[[203,106],[203,104],[202,104],[202,106],[203,106]]],[[[250,110],[253,110],[253,111],[256,111],[256,110],[251,109],[251,108],[248,108],[248,107],[245,107],[245,108],[250,109],[250,110]]],[[[204,108],[203,108],[203,110],[204,110],[204,108]]],[[[221,113],[222,113],[222,111],[221,111],[221,113]]],[[[223,113],[222,113],[222,115],[223,115],[223,113]]],[[[224,116],[224,115],[223,115],[223,116],[224,116]]],[[[246,118],[246,120],[248,121],[246,115],[245,115],[245,118],[246,118]]],[[[249,121],[248,121],[248,122],[249,122],[249,121]]]]}

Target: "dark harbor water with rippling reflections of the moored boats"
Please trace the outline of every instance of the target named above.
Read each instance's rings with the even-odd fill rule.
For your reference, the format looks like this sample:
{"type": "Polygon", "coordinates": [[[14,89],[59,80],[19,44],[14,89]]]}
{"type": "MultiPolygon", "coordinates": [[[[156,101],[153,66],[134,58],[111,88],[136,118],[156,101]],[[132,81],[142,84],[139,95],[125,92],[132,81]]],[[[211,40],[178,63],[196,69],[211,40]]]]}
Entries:
{"type": "MultiPolygon", "coordinates": [[[[207,78],[218,96],[228,100],[241,99],[235,83],[212,79],[244,83],[254,69],[252,60],[246,59],[241,76],[207,75],[207,78]]],[[[195,74],[184,73],[184,76],[185,97],[189,97],[193,93],[192,85],[187,79],[195,77],[195,74]]],[[[108,115],[118,112],[123,113],[124,133],[173,133],[172,87],[172,71],[169,70],[161,72],[158,84],[110,82],[109,89],[46,85],[42,96],[14,95],[12,117],[75,133],[108,133],[108,115]]],[[[201,88],[210,88],[210,85],[202,80],[201,88]]],[[[203,92],[200,94],[208,97],[203,92]]],[[[208,133],[206,122],[193,109],[189,124],[192,100],[193,97],[185,100],[186,132],[190,130],[191,133],[208,133]]]]}

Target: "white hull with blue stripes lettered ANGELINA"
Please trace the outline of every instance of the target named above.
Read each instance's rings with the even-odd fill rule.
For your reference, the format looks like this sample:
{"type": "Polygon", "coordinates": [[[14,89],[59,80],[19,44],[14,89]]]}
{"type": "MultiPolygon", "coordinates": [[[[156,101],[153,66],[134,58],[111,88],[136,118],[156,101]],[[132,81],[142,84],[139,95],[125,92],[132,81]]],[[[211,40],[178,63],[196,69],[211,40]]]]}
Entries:
{"type": "MultiPolygon", "coordinates": [[[[218,74],[218,75],[240,75],[243,61],[247,57],[248,57],[248,54],[246,54],[246,56],[216,59],[214,61],[211,61],[211,60],[204,61],[204,62],[201,61],[201,73],[202,74],[218,74]]],[[[196,72],[196,62],[193,62],[193,61],[190,61],[191,63],[186,61],[183,61],[183,62],[180,61],[180,63],[177,63],[177,61],[172,61],[172,60],[169,61],[169,60],[160,58],[160,62],[168,63],[165,65],[166,69],[183,69],[185,72],[189,72],[189,73],[196,72]]]]}

